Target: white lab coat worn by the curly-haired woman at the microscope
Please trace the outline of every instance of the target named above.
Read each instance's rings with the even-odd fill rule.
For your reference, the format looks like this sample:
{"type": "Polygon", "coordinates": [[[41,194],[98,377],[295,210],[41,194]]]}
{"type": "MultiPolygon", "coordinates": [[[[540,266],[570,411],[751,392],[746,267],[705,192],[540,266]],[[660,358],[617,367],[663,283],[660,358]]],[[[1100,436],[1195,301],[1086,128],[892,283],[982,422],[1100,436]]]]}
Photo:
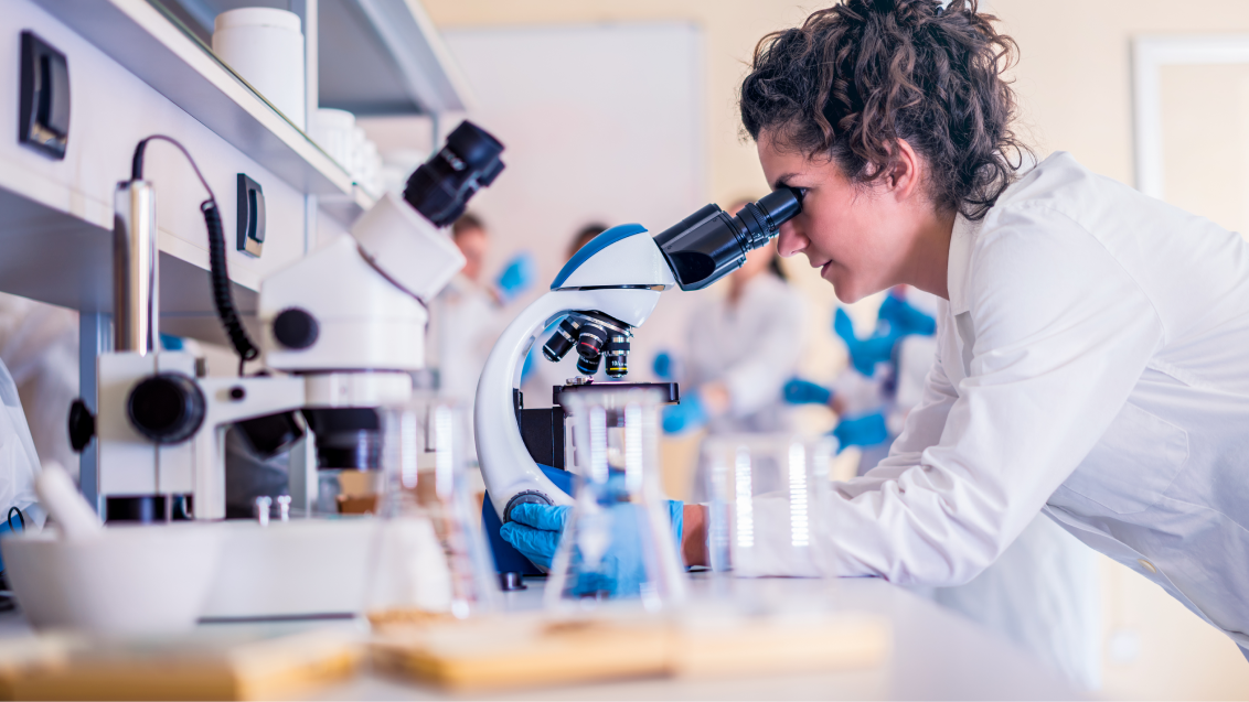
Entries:
{"type": "Polygon", "coordinates": [[[1044,511],[1249,646],[1249,246],[1055,153],[948,283],[922,403],[834,484],[838,572],[967,582],[1044,511]]]}

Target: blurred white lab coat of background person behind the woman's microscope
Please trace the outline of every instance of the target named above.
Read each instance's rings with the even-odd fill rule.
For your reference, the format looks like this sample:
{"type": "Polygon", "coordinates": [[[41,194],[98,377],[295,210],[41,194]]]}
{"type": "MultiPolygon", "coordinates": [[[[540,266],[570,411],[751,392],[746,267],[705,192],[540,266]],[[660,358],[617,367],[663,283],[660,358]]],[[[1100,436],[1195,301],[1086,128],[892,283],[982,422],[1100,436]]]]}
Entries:
{"type": "Polygon", "coordinates": [[[762,273],[746,283],[737,304],[724,297],[691,315],[686,392],[719,382],[732,398],[728,411],[708,423],[712,434],[788,429],[782,390],[802,355],[804,305],[784,281],[762,273]]]}

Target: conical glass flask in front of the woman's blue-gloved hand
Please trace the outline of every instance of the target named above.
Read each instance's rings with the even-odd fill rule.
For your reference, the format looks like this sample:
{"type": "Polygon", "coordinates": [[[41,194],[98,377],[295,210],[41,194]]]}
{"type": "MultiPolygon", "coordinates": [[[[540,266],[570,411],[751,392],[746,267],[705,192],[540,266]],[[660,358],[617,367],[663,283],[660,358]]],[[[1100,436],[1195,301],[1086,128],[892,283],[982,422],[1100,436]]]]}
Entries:
{"type": "Polygon", "coordinates": [[[585,385],[561,403],[572,430],[573,506],[546,586],[548,607],[684,599],[668,501],[659,488],[659,409],[647,388],[585,385]]]}

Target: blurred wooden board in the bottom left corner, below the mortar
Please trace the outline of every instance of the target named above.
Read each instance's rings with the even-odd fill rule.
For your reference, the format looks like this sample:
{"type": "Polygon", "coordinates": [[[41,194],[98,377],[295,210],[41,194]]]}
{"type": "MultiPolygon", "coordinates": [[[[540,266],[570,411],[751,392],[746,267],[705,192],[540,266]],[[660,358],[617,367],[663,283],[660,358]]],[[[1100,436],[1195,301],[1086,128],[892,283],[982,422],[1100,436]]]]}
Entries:
{"type": "Polygon", "coordinates": [[[0,642],[0,702],[51,700],[266,701],[355,673],[348,632],[207,632],[91,641],[45,635],[0,642]]]}

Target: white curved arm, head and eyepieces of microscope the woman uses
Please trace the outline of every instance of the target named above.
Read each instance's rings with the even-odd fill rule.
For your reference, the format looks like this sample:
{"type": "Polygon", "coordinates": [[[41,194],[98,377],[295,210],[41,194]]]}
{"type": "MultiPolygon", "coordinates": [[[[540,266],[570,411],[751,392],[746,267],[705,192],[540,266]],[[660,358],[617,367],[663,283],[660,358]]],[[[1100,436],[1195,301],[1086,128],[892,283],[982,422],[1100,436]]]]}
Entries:
{"type": "Polygon", "coordinates": [[[538,468],[518,426],[516,369],[535,334],[560,320],[542,347],[548,360],[576,348],[580,372],[593,375],[606,363],[610,378],[623,378],[632,328],[646,322],[659,294],[673,286],[702,289],[736,271],[748,251],[764,246],[802,211],[802,195],[781,188],[747,204],[737,217],[708,204],[654,238],[638,224],[607,229],[568,261],[551,292],[512,320],[486,360],[473,410],[477,459],[502,522],[518,504],[572,504],[538,468]]]}

